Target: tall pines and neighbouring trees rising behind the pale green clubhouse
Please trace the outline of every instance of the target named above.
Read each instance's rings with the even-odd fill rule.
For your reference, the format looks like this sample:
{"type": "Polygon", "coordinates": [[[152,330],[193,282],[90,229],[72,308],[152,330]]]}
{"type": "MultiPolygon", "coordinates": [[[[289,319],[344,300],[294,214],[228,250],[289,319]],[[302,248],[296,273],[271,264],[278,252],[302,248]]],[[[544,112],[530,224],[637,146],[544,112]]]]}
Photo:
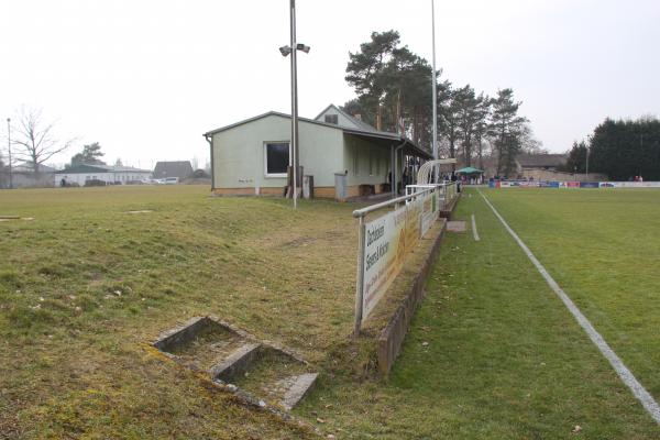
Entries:
{"type": "MultiPolygon", "coordinates": [[[[497,174],[512,175],[520,151],[539,151],[528,120],[518,114],[521,102],[509,88],[494,98],[470,85],[455,87],[438,81],[438,136],[443,154],[460,157],[468,166],[483,167],[487,155],[496,157],[497,174]]],[[[397,132],[430,148],[432,132],[432,67],[402,46],[399,33],[371,35],[360,51],[349,54],[345,80],[358,97],[343,109],[360,113],[378,130],[397,132]]]]}

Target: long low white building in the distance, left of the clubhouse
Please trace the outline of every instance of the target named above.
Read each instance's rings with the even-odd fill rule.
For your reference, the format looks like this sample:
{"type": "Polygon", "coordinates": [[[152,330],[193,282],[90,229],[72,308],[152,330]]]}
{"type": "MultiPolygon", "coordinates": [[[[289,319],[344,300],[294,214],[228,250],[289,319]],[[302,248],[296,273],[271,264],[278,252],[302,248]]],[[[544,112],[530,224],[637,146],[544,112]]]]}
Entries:
{"type": "Polygon", "coordinates": [[[86,164],[76,165],[53,174],[55,186],[85,186],[85,183],[88,180],[102,180],[111,185],[127,185],[148,179],[151,175],[152,172],[148,169],[139,169],[130,166],[86,164]]]}

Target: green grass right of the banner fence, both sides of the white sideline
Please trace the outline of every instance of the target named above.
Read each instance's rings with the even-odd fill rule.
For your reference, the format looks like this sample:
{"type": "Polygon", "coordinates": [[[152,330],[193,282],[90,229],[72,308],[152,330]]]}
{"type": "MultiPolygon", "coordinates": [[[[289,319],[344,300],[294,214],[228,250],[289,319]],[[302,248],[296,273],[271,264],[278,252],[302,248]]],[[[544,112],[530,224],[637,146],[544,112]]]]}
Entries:
{"type": "MultiPolygon", "coordinates": [[[[660,193],[484,193],[660,397],[660,193]]],[[[315,394],[323,400],[306,406],[336,429],[350,427],[351,438],[659,438],[660,428],[469,190],[455,217],[473,213],[481,241],[470,231],[448,234],[391,381],[356,386],[339,376],[315,394]]]]}

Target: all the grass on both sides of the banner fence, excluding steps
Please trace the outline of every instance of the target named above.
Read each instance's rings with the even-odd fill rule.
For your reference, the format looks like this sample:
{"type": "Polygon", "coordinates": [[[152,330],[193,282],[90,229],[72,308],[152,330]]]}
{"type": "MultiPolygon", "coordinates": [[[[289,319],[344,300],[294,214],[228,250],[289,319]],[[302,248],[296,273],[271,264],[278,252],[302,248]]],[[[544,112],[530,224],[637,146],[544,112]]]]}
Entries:
{"type": "MultiPolygon", "coordinates": [[[[485,194],[659,398],[660,193],[485,194]]],[[[387,383],[348,338],[355,206],[207,196],[0,193],[0,216],[34,218],[0,222],[0,438],[311,437],[148,348],[207,314],[318,366],[295,413],[338,438],[660,437],[476,193],[457,217],[482,240],[447,235],[387,383]]]]}

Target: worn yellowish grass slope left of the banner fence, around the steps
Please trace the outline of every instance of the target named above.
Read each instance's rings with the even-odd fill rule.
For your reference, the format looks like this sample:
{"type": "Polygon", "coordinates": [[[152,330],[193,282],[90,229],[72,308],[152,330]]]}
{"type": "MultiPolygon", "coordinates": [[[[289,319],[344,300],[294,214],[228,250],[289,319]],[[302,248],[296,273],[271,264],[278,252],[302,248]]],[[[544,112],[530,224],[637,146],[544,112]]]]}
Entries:
{"type": "Polygon", "coordinates": [[[0,193],[0,432],[298,438],[147,342],[215,314],[319,362],[351,331],[353,206],[207,187],[0,193]],[[153,210],[127,213],[130,210],[153,210]]]}

